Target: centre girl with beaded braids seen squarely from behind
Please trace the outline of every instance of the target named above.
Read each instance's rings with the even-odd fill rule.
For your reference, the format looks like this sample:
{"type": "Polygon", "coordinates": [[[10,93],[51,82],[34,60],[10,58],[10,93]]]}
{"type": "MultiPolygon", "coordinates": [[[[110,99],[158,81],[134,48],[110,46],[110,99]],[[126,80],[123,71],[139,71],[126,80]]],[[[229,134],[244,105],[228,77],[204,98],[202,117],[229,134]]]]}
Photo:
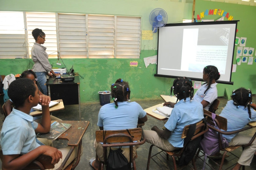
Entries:
{"type": "MultiPolygon", "coordinates": [[[[123,130],[137,128],[138,121],[146,122],[148,117],[140,104],[130,101],[130,87],[128,82],[117,79],[111,85],[111,96],[113,103],[105,104],[100,108],[98,123],[100,130],[123,130]]],[[[104,161],[102,143],[94,141],[96,158],[91,158],[89,163],[94,169],[98,169],[99,163],[104,161]]],[[[136,156],[136,149],[139,146],[133,146],[133,157],[136,156]]],[[[118,148],[111,148],[116,150],[118,148]]],[[[129,148],[122,147],[122,153],[129,161],[129,148]]],[[[107,151],[108,152],[108,151],[107,151]]],[[[108,153],[107,153],[108,154],[108,153]]]]}

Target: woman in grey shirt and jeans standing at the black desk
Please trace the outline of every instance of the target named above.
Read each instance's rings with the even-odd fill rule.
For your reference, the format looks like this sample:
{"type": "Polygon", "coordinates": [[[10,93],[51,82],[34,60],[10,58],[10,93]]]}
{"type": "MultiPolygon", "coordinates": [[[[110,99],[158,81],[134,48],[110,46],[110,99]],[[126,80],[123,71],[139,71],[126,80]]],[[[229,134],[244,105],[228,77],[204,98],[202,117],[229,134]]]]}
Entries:
{"type": "Polygon", "coordinates": [[[48,60],[48,54],[45,52],[46,47],[41,45],[45,42],[45,34],[42,29],[34,29],[32,31],[32,35],[36,40],[31,49],[31,58],[35,63],[32,70],[36,73],[36,77],[38,79],[38,89],[43,92],[44,95],[47,95],[47,88],[46,85],[44,85],[47,81],[46,75],[48,72],[52,73],[52,75],[48,74],[50,77],[55,77],[59,74],[55,74],[52,70],[52,66],[48,60]]]}

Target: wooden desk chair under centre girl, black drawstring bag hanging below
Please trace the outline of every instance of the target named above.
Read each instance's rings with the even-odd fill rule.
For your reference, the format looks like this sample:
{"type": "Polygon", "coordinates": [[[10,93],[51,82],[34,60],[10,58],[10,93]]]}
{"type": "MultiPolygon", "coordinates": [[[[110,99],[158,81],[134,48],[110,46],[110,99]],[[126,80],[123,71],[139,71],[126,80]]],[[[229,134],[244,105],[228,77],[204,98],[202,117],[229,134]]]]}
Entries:
{"type": "Polygon", "coordinates": [[[133,170],[136,170],[135,159],[133,158],[133,146],[142,145],[146,142],[146,137],[142,128],[134,128],[127,130],[97,130],[96,131],[96,142],[103,142],[103,154],[104,162],[100,161],[99,170],[104,169],[104,165],[107,162],[107,148],[115,146],[130,146],[130,167],[133,166],[133,170]],[[105,138],[103,137],[105,136],[105,138]],[[138,141],[138,142],[133,142],[138,141]],[[126,143],[124,143],[126,142],[126,143]],[[108,143],[108,144],[107,144],[108,143]]]}

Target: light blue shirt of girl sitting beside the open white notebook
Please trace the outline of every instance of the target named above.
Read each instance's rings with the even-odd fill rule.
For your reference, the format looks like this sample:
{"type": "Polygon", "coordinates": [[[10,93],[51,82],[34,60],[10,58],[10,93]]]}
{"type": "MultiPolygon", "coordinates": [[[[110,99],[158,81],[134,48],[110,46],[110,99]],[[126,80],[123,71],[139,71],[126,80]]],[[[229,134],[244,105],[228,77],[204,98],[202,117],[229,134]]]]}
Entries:
{"type": "Polygon", "coordinates": [[[170,118],[164,125],[165,128],[172,131],[168,141],[174,147],[183,147],[184,139],[181,139],[181,135],[185,126],[197,123],[204,118],[203,105],[189,100],[188,97],[186,102],[182,99],[175,104],[170,118]]]}

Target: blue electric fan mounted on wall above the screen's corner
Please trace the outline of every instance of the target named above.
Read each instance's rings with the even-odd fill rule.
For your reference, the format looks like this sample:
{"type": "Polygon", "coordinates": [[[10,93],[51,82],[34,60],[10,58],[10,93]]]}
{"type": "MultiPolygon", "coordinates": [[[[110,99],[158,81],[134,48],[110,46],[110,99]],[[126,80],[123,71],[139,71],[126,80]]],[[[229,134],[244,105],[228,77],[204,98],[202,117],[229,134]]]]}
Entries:
{"type": "Polygon", "coordinates": [[[156,8],[149,14],[149,22],[152,25],[153,33],[156,33],[157,28],[164,27],[167,23],[167,13],[162,8],[156,8]]]}

